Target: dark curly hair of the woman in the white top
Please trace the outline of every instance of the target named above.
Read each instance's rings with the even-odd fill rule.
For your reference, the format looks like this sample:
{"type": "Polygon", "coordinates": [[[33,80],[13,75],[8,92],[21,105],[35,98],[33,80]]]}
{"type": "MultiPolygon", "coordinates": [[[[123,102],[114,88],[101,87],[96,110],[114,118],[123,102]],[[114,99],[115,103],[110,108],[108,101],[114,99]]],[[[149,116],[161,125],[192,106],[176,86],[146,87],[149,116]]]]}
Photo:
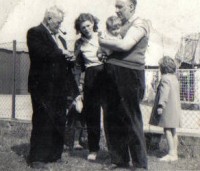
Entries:
{"type": "Polygon", "coordinates": [[[78,18],[75,20],[75,29],[76,29],[76,33],[79,34],[80,33],[80,25],[81,23],[85,22],[85,21],[90,21],[92,23],[94,23],[94,32],[98,31],[98,23],[99,23],[99,19],[97,17],[94,17],[92,14],[90,13],[81,13],[78,18]]]}

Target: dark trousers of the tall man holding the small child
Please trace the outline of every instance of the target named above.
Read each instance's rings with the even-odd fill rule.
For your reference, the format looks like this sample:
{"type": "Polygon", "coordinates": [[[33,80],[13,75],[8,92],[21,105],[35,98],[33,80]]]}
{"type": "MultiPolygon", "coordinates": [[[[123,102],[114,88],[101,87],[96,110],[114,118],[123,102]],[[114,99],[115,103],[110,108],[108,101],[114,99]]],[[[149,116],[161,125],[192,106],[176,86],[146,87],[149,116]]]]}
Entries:
{"type": "Polygon", "coordinates": [[[114,164],[147,167],[146,144],[140,101],[144,95],[144,71],[106,64],[107,89],[104,119],[107,142],[114,164]]]}

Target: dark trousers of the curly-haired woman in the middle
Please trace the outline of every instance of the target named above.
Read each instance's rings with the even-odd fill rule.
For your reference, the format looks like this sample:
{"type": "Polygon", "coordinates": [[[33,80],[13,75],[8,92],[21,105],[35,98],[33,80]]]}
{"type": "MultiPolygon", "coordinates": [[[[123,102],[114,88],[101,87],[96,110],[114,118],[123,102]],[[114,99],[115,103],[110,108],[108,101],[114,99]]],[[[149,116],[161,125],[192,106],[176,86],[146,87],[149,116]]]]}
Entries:
{"type": "Polygon", "coordinates": [[[83,89],[83,114],[86,119],[90,152],[97,152],[99,150],[103,80],[103,65],[86,69],[83,89]]]}

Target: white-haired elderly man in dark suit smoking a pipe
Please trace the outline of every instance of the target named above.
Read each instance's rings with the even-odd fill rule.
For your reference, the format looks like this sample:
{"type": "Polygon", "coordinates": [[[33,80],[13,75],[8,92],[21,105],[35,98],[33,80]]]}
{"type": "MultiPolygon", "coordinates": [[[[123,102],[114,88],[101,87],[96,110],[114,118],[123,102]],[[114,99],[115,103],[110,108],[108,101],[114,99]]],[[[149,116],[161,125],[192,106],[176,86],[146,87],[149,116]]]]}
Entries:
{"type": "Polygon", "coordinates": [[[32,167],[61,159],[69,95],[78,95],[71,72],[71,54],[59,34],[64,13],[46,10],[43,22],[27,33],[30,55],[28,89],[33,116],[29,162],[32,167]]]}

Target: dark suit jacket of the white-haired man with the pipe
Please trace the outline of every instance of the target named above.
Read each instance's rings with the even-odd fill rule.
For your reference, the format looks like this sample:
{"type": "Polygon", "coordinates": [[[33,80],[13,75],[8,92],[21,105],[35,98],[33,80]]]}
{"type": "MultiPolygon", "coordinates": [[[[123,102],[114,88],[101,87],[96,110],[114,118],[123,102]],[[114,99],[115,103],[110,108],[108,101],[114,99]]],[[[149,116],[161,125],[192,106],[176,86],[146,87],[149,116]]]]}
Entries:
{"type": "MultiPolygon", "coordinates": [[[[67,48],[64,39],[62,43],[67,48]]],[[[54,94],[67,95],[67,85],[73,80],[70,64],[43,24],[28,31],[27,45],[31,62],[29,92],[36,90],[44,93],[53,90],[54,94]]]]}

